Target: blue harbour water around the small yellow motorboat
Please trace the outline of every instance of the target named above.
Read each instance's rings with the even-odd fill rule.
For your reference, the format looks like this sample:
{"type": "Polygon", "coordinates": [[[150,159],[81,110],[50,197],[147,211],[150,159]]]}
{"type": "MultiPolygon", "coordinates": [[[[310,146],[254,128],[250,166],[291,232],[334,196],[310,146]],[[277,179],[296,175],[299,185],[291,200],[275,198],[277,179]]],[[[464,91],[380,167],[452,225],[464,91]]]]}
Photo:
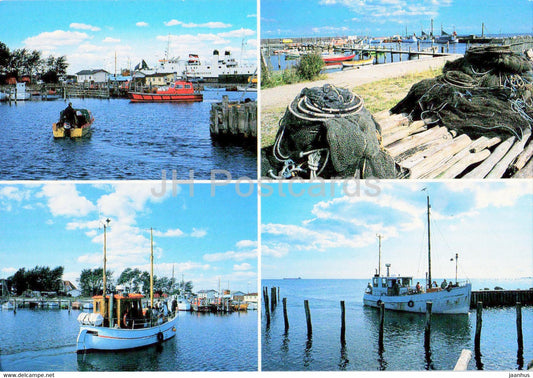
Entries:
{"type": "MultiPolygon", "coordinates": [[[[127,99],[71,99],[95,119],[89,138],[54,140],[52,123],[66,107],[62,100],[0,103],[0,180],[161,179],[176,170],[178,179],[209,179],[212,169],[232,178],[257,177],[254,146],[221,145],[211,140],[209,111],[227,94],[205,91],[191,104],[134,104],[127,99]]],[[[246,97],[256,99],[256,93],[246,97]]]]}

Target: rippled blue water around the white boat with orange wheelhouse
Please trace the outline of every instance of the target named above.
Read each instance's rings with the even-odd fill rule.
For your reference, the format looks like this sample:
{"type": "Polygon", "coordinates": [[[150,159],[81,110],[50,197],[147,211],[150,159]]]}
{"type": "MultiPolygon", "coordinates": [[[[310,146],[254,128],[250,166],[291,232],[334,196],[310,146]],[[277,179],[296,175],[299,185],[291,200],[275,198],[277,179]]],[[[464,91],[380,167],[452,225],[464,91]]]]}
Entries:
{"type": "Polygon", "coordinates": [[[3,371],[257,371],[257,311],[180,312],[161,347],[76,354],[79,311],[0,311],[3,371]]]}

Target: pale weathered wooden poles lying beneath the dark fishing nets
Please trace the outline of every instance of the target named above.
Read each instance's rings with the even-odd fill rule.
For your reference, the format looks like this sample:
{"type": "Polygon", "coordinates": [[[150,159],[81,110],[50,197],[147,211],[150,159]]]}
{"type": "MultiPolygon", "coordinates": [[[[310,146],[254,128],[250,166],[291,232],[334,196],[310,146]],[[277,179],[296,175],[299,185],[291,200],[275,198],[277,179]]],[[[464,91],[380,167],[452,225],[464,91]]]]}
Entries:
{"type": "Polygon", "coordinates": [[[399,166],[400,178],[531,178],[531,133],[521,140],[480,137],[472,140],[445,126],[428,128],[406,114],[376,113],[382,128],[382,145],[399,166]]]}

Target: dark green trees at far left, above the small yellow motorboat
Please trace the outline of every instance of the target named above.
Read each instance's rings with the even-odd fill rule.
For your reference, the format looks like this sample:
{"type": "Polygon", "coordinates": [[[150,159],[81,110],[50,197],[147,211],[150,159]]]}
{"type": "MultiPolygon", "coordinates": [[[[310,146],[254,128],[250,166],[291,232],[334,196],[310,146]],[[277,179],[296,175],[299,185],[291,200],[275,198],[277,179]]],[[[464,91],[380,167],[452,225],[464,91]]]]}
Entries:
{"type": "Polygon", "coordinates": [[[39,50],[22,48],[11,51],[5,43],[0,42],[0,84],[8,78],[20,81],[23,76],[45,83],[57,83],[67,73],[67,68],[66,56],[56,58],[50,55],[44,58],[39,50]]]}

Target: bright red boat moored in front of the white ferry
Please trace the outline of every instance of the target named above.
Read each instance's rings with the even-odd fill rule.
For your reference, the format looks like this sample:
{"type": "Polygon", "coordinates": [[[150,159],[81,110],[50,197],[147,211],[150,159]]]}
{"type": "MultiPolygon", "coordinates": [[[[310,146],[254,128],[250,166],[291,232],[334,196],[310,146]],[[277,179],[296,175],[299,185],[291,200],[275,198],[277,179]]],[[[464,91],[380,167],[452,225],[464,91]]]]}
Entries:
{"type": "Polygon", "coordinates": [[[204,96],[196,91],[191,82],[178,80],[168,87],[156,89],[151,93],[129,92],[131,102],[197,102],[204,96]]]}

